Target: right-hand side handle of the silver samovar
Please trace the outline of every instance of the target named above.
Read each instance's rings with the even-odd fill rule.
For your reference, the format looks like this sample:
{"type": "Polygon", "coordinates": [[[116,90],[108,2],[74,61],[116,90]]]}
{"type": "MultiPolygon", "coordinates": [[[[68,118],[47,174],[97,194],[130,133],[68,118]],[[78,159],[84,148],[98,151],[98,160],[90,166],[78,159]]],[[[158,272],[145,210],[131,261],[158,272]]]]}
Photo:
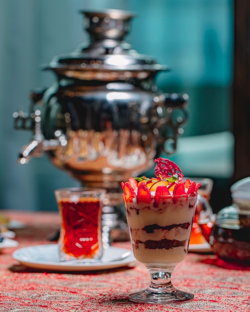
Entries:
{"type": "MultiPolygon", "coordinates": [[[[187,122],[189,112],[186,93],[164,93],[154,98],[159,131],[158,144],[161,151],[172,155],[177,149],[177,138],[184,133],[182,126],[187,122]]],[[[159,154],[159,152],[158,152],[159,154]]]]}

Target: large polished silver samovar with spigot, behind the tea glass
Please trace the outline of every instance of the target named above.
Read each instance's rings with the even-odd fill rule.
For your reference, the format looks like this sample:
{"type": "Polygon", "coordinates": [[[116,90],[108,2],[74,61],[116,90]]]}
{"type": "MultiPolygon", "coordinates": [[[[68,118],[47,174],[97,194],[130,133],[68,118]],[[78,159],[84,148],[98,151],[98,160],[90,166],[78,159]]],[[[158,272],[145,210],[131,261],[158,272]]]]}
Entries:
{"type": "Polygon", "coordinates": [[[31,93],[31,111],[13,114],[16,129],[30,129],[19,163],[46,152],[82,185],[104,187],[104,225],[121,219],[120,182],[151,169],[161,152],[176,150],[188,112],[186,94],[163,94],[155,76],[168,68],[123,40],[134,15],[107,10],[84,14],[90,42],[52,59],[55,83],[31,93]]]}

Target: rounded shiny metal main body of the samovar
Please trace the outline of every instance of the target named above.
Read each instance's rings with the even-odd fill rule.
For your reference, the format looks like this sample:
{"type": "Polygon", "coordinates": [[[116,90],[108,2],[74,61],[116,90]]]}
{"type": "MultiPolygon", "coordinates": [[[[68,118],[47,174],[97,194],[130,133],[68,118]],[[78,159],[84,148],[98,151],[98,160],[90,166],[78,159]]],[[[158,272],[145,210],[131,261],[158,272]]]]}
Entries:
{"type": "Polygon", "coordinates": [[[43,95],[41,131],[58,145],[48,155],[83,184],[117,186],[153,166],[165,139],[165,101],[126,82],[51,87],[43,95]]]}

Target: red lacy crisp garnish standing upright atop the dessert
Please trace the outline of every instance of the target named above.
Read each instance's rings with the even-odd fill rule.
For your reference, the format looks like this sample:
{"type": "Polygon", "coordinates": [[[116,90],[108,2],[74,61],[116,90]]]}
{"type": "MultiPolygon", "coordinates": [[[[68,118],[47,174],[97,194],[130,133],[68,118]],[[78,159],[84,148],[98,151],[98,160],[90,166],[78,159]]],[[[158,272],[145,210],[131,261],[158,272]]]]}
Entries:
{"type": "Polygon", "coordinates": [[[158,180],[170,179],[176,176],[179,182],[183,181],[182,170],[176,163],[162,157],[155,159],[155,162],[157,163],[155,167],[155,176],[158,180]]]}

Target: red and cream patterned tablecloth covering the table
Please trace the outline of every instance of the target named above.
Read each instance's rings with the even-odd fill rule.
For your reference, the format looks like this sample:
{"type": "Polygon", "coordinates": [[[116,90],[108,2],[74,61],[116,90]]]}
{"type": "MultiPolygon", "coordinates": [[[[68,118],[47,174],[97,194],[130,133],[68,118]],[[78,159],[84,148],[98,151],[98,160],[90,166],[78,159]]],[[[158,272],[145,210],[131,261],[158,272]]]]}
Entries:
{"type": "MultiPolygon", "coordinates": [[[[191,302],[137,304],[129,293],[147,288],[150,279],[140,263],[93,272],[51,272],[27,268],[12,258],[18,248],[51,244],[59,227],[56,212],[0,211],[23,227],[12,229],[18,247],[0,252],[0,311],[15,312],[250,312],[250,267],[224,262],[213,254],[189,253],[175,269],[174,286],[194,294],[191,302]]],[[[130,242],[114,246],[130,249],[130,242]]]]}

